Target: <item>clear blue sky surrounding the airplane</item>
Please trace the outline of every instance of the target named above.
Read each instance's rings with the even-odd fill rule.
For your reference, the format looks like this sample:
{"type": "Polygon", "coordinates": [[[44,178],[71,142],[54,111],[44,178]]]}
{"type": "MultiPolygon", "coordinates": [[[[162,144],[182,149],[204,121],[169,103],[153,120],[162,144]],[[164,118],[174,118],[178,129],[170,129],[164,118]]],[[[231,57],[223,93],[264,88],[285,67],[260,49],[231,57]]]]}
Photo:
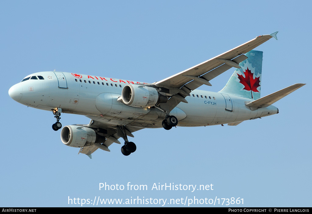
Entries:
{"type": "MultiPolygon", "coordinates": [[[[0,206],[81,206],[68,204],[68,197],[234,197],[244,198],[237,207],[310,207],[310,8],[310,1],[1,1],[0,206]],[[52,130],[51,112],[27,108],[7,93],[28,74],[54,69],[155,82],[275,31],[277,41],[256,48],[263,51],[261,96],[307,84],[275,103],[279,114],[234,127],[140,130],[130,156],[117,144],[92,159],[77,155],[52,130]],[[99,190],[105,182],[148,190],[99,190]],[[214,189],[156,191],[154,183],[214,189]]],[[[220,91],[233,72],[201,89],[220,91]]],[[[89,122],[61,117],[63,126],[89,122]]]]}

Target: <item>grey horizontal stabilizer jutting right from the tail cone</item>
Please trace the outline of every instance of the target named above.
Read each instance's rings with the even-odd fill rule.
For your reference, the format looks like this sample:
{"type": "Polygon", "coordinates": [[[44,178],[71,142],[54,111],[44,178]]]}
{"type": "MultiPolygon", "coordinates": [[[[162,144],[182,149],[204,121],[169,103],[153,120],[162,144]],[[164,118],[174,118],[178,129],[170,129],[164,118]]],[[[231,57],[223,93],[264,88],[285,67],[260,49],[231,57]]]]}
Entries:
{"type": "Polygon", "coordinates": [[[245,104],[246,106],[253,107],[253,108],[261,108],[261,107],[268,107],[269,105],[272,105],[276,101],[282,99],[286,95],[289,95],[291,92],[297,90],[298,88],[304,86],[303,83],[297,83],[295,85],[289,86],[287,88],[284,88],[280,91],[276,91],[273,94],[267,95],[265,97],[262,97],[258,100],[252,101],[250,103],[245,104]]]}

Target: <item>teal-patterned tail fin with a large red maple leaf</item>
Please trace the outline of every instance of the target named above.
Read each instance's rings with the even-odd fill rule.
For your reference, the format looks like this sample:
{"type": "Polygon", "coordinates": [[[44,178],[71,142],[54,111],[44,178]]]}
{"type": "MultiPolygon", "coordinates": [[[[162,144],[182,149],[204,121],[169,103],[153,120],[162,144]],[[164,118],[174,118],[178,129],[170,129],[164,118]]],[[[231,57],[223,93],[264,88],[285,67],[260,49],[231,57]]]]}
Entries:
{"type": "Polygon", "coordinates": [[[245,55],[248,57],[241,63],[230,77],[224,88],[219,91],[253,100],[260,98],[262,51],[251,50],[245,55]]]}

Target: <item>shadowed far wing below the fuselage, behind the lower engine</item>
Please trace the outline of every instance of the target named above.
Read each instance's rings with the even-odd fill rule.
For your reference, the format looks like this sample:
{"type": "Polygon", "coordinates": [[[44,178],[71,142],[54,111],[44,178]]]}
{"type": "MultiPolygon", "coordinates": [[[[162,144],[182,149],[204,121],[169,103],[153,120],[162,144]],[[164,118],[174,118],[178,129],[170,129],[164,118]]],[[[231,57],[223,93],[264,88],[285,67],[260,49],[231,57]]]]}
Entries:
{"type": "MultiPolygon", "coordinates": [[[[108,147],[111,144],[113,144],[113,143],[120,144],[118,139],[121,136],[120,136],[120,134],[118,134],[118,130],[117,130],[118,127],[116,125],[102,123],[102,122],[96,121],[94,119],[91,119],[91,121],[88,125],[82,125],[82,124],[76,124],[76,125],[93,128],[97,132],[97,134],[106,138],[105,142],[102,144],[94,144],[92,146],[80,148],[79,153],[86,154],[90,158],[91,158],[91,154],[93,152],[95,152],[98,148],[100,148],[104,151],[110,151],[108,149],[108,147]]],[[[130,137],[134,137],[132,134],[133,132],[138,131],[140,129],[143,129],[143,128],[132,127],[132,126],[124,126],[124,128],[126,130],[126,134],[130,137]]]]}

